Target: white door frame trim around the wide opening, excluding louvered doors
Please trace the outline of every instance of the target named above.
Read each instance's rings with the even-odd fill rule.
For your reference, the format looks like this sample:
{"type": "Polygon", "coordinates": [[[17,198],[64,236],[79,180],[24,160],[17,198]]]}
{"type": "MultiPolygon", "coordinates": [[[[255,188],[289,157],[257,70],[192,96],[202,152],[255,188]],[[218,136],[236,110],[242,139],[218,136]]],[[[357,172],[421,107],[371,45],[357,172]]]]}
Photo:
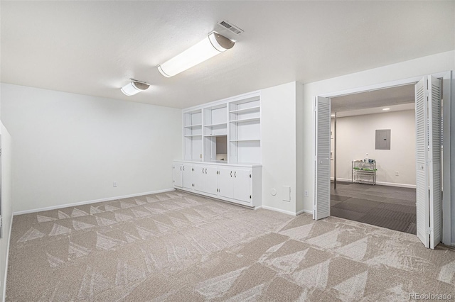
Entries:
{"type": "MultiPolygon", "coordinates": [[[[347,96],[349,94],[358,94],[360,92],[366,92],[366,91],[373,91],[373,90],[380,90],[380,89],[387,89],[387,88],[392,88],[392,87],[397,87],[397,86],[403,86],[403,85],[409,85],[409,84],[416,84],[419,82],[422,77],[428,74],[423,74],[421,76],[417,77],[411,77],[407,79],[399,79],[391,82],[384,82],[380,84],[373,84],[369,86],[361,86],[361,87],[356,87],[353,89],[346,89],[346,90],[341,90],[341,91],[333,91],[329,92],[327,94],[319,94],[317,96],[322,96],[328,99],[331,99],[333,97],[337,96],[347,96]]],[[[451,211],[455,210],[451,208],[451,161],[450,161],[450,153],[451,153],[451,141],[450,141],[450,133],[451,133],[451,123],[448,123],[448,121],[451,121],[451,98],[454,96],[454,101],[455,101],[455,74],[453,71],[446,71],[446,72],[437,72],[434,74],[430,74],[433,77],[437,77],[438,79],[442,79],[443,81],[443,90],[442,90],[442,106],[444,108],[443,111],[443,120],[446,121],[446,127],[443,129],[443,136],[444,136],[444,141],[442,144],[443,150],[449,150],[444,152],[442,160],[446,164],[446,169],[443,169],[443,183],[442,187],[444,188],[444,193],[442,197],[442,237],[441,237],[441,242],[444,243],[445,245],[451,245],[451,211]]],[[[314,96],[313,99],[317,96],[314,96]]],[[[331,101],[331,100],[330,100],[331,101]]],[[[315,106],[315,105],[314,105],[315,106]]],[[[455,105],[454,105],[455,106],[455,105]]],[[[314,108],[316,110],[316,108],[314,108]]],[[[330,113],[329,113],[330,114],[330,113]]],[[[317,138],[318,133],[316,132],[316,128],[314,129],[314,138],[317,138]]],[[[314,157],[316,158],[316,148],[314,148],[315,154],[314,157]]],[[[315,163],[316,164],[316,163],[315,163]]],[[[314,167],[316,169],[316,167],[314,167]]],[[[455,175],[454,175],[455,176],[455,175]]],[[[316,181],[316,179],[315,179],[316,181]]],[[[329,192],[330,193],[330,192],[329,192]]],[[[455,192],[454,192],[455,194],[455,192]]],[[[314,196],[314,207],[316,208],[316,196],[314,196]]],[[[455,234],[454,234],[455,235],[455,234]]]]}

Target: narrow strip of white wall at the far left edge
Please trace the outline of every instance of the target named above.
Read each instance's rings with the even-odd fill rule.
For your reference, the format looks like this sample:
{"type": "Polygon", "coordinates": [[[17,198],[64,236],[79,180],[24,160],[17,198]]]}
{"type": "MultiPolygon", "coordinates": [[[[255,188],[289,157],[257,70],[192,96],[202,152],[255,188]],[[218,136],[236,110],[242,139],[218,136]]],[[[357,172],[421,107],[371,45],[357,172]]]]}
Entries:
{"type": "Polygon", "coordinates": [[[0,239],[0,301],[6,292],[6,272],[8,267],[9,237],[13,218],[12,201],[12,146],[11,135],[0,123],[1,134],[1,216],[3,218],[3,237],[0,239]]]}

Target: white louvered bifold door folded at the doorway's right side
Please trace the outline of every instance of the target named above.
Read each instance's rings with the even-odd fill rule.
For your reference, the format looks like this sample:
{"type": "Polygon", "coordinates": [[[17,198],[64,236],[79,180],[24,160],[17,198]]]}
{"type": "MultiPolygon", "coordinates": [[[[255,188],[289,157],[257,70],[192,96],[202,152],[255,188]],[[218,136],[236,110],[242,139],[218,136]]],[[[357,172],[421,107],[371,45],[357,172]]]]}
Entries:
{"type": "Polygon", "coordinates": [[[425,247],[441,241],[441,93],[439,79],[415,85],[417,237],[425,247]]]}

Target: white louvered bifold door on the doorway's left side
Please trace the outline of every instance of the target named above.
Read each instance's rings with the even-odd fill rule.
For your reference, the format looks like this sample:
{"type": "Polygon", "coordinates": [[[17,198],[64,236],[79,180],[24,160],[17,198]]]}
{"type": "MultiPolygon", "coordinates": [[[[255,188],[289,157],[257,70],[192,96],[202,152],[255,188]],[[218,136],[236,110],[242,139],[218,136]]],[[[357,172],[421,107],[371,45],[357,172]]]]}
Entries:
{"type": "Polygon", "coordinates": [[[330,99],[316,96],[314,219],[330,216],[330,99]]]}

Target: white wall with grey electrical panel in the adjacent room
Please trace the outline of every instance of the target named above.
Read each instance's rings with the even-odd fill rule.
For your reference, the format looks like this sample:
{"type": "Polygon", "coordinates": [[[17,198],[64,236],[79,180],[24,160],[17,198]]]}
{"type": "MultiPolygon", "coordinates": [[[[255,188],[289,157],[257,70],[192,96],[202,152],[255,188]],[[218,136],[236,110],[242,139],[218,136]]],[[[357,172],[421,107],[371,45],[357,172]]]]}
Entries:
{"type": "MultiPolygon", "coordinates": [[[[363,160],[368,153],[369,158],[376,160],[378,184],[415,186],[414,110],[337,118],[336,138],[337,179],[350,181],[351,161],[363,160]],[[390,129],[390,150],[375,150],[375,130],[378,129],[390,129]],[[395,172],[399,172],[399,176],[395,172]]],[[[333,140],[331,142],[333,144],[333,140]]]]}

